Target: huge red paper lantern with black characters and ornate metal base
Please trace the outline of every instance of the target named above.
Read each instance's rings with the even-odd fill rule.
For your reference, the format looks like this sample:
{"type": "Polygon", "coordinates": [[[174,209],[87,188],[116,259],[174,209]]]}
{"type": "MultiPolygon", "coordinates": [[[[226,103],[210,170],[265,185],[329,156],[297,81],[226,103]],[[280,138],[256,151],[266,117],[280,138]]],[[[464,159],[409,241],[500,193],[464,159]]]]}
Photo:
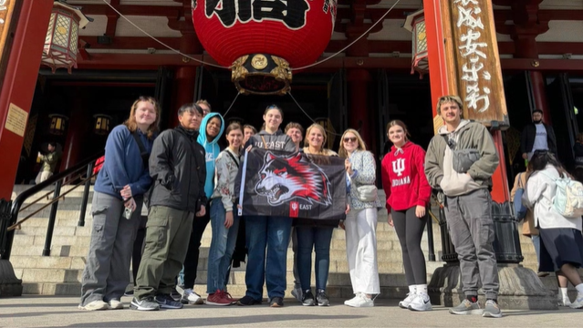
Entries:
{"type": "Polygon", "coordinates": [[[239,91],[285,94],[290,67],[314,63],[328,46],[336,8],[337,0],[193,0],[193,24],[239,91]]]}

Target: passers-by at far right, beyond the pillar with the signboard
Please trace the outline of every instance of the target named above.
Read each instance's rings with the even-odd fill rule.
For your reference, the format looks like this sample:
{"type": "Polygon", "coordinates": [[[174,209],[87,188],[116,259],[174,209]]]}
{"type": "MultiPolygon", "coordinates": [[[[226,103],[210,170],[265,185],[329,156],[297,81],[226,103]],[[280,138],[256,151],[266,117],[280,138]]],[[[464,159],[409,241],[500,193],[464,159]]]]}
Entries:
{"type": "Polygon", "coordinates": [[[557,275],[557,303],[559,306],[583,308],[583,284],[577,272],[583,257],[581,218],[567,218],[553,209],[557,194],[557,179],[572,178],[583,181],[583,134],[578,135],[573,148],[576,168],[569,174],[557,160],[557,138],[554,129],[544,123],[543,111],[536,109],[532,123],[526,125],[521,137],[522,157],[526,171],[515,177],[510,197],[515,199],[522,190],[523,205],[527,207],[522,234],[533,242],[538,261],[538,276],[548,272],[557,275]],[[576,287],[578,296],[571,302],[567,284],[576,287]]]}

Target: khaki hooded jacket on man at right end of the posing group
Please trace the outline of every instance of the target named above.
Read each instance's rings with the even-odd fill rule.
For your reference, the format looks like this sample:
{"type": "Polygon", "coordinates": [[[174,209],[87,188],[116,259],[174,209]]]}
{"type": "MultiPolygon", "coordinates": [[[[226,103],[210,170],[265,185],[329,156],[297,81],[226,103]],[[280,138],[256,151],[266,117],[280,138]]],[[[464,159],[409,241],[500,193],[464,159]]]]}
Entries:
{"type": "Polygon", "coordinates": [[[494,140],[484,125],[463,119],[452,132],[446,126],[439,129],[432,138],[425,155],[425,174],[429,184],[441,188],[449,197],[461,196],[473,190],[492,186],[492,175],[500,159],[494,140]],[[447,144],[453,139],[455,149],[476,149],[480,159],[468,169],[467,173],[453,169],[453,150],[447,144]]]}

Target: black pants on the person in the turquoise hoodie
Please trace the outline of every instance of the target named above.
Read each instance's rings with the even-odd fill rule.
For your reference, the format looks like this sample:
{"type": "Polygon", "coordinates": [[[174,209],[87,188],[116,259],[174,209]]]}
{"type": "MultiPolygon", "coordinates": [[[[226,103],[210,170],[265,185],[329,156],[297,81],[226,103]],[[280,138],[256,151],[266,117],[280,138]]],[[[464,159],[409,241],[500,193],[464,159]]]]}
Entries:
{"type": "Polygon", "coordinates": [[[192,289],[196,281],[196,271],[198,268],[198,259],[201,249],[201,240],[206,225],[211,220],[211,207],[206,204],[206,213],[203,217],[194,216],[193,232],[191,233],[191,241],[188,244],[188,251],[186,252],[186,259],[184,260],[184,289],[192,289]]]}

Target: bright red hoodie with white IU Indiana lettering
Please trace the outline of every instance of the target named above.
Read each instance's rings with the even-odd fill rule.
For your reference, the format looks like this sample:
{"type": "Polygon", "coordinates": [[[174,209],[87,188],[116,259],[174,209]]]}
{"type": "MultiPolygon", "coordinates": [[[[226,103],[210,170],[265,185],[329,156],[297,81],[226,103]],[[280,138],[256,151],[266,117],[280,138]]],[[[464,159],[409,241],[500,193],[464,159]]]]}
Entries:
{"type": "Polygon", "coordinates": [[[382,159],[382,189],[387,194],[387,210],[408,210],[427,206],[432,188],[425,177],[425,150],[407,141],[401,149],[395,146],[382,159]]]}

